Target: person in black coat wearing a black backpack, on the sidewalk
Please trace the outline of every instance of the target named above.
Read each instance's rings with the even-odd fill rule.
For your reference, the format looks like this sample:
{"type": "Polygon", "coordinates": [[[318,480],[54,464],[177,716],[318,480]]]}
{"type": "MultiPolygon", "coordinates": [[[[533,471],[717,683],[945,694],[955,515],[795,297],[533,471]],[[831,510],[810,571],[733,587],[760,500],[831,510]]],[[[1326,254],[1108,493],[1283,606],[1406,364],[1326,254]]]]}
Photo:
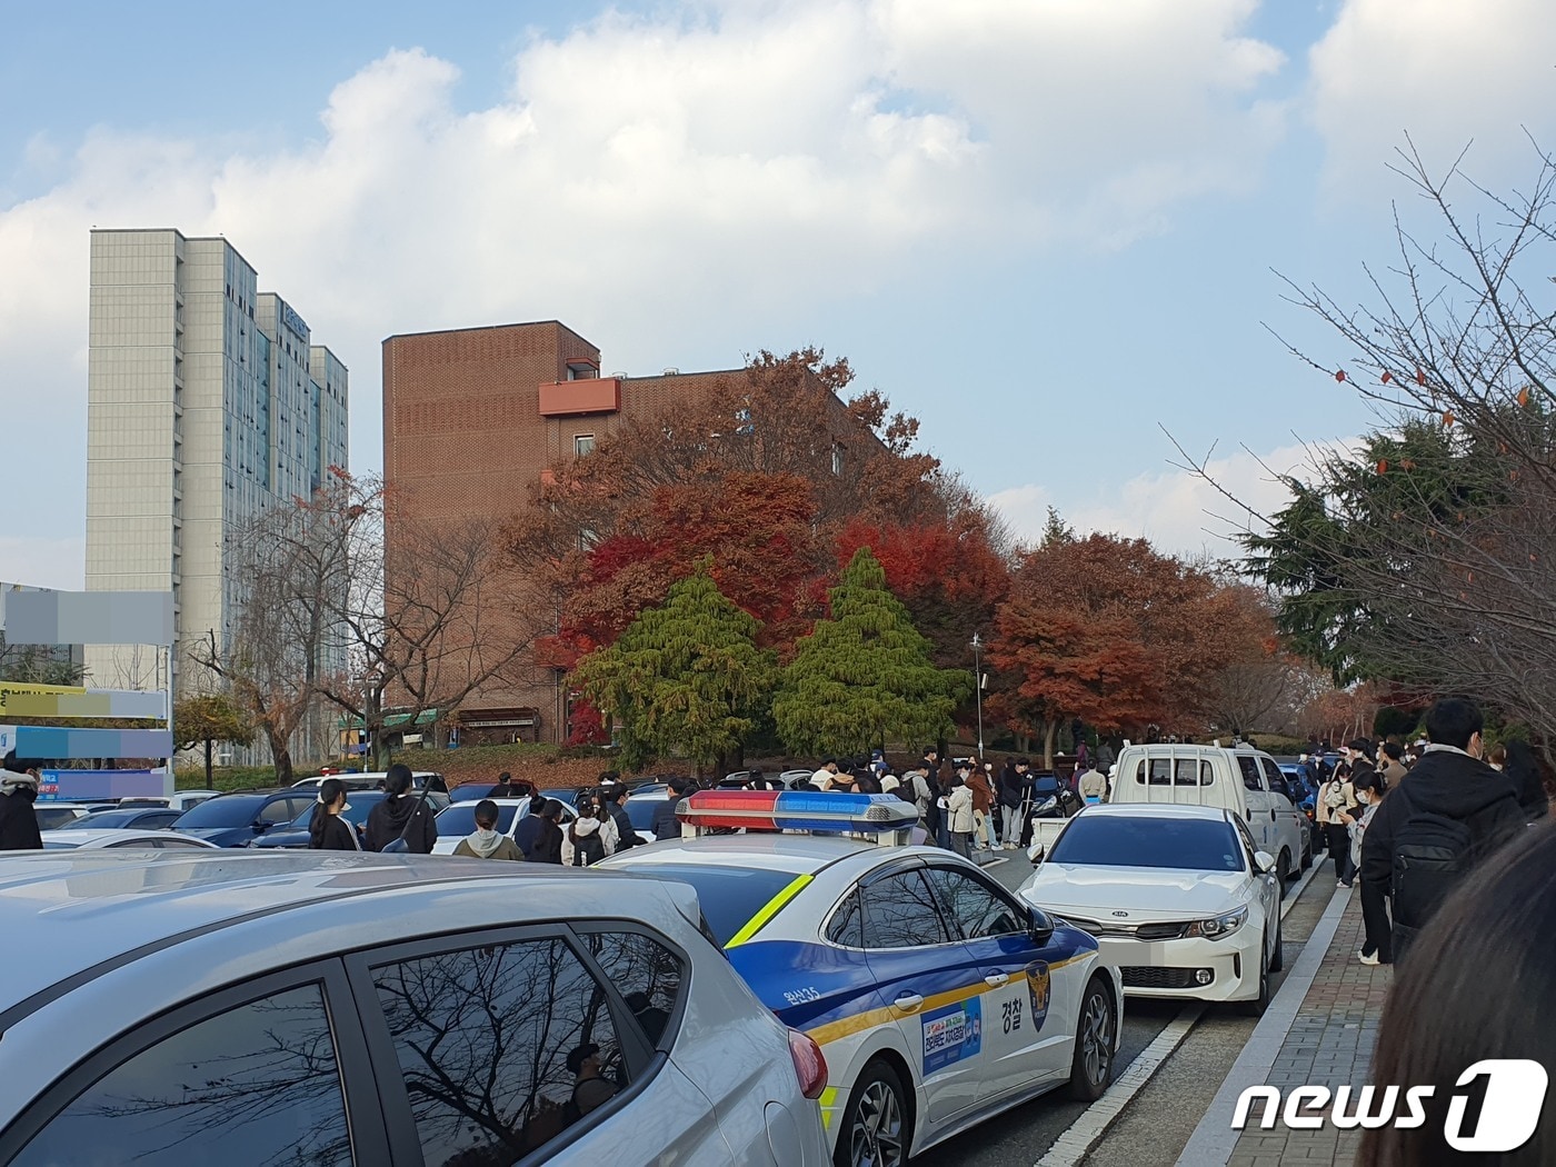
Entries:
{"type": "MultiPolygon", "coordinates": [[[[1410,842],[1413,820],[1436,815],[1463,823],[1469,850],[1453,876],[1458,884],[1492,851],[1528,825],[1519,792],[1506,775],[1480,759],[1481,714],[1470,702],[1446,697],[1427,711],[1427,745],[1421,761],[1377,808],[1362,836],[1362,882],[1374,896],[1393,895],[1393,955],[1399,963],[1416,934],[1436,910],[1436,902],[1418,906],[1414,896],[1394,887],[1394,857],[1410,842]]],[[[1427,876],[1432,878],[1430,870],[1427,876]]],[[[1416,876],[1421,878],[1419,874],[1416,876]]]]}

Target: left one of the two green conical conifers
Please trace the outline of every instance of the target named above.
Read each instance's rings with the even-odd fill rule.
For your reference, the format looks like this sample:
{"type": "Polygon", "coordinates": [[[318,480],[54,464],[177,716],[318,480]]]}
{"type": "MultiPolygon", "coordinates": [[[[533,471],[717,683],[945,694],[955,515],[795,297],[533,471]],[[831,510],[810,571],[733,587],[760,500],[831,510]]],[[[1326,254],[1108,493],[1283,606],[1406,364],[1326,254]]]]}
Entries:
{"type": "Polygon", "coordinates": [[[624,766],[680,755],[703,770],[741,745],[772,689],[775,661],[756,632],[702,559],[663,604],[585,657],[574,683],[619,722],[624,766]]]}

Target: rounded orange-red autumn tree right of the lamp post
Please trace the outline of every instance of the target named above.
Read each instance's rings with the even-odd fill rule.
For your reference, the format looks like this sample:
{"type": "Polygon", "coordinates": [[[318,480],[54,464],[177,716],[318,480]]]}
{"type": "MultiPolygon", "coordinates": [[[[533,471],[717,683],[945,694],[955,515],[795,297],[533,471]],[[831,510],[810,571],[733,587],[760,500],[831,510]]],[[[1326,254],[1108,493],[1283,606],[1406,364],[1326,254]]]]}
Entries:
{"type": "Polygon", "coordinates": [[[1145,540],[1081,540],[1058,524],[1021,557],[994,618],[990,660],[1018,678],[994,710],[1043,739],[1046,766],[1066,719],[1198,728],[1231,660],[1220,607],[1207,573],[1145,540]]]}

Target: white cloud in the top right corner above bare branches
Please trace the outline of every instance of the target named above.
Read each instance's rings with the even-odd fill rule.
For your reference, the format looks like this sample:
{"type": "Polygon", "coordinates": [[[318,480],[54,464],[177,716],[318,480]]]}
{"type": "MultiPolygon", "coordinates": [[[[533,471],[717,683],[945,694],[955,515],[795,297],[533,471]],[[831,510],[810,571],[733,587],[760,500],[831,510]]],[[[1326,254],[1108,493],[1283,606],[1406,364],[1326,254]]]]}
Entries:
{"type": "Polygon", "coordinates": [[[1556,9],[1548,0],[1346,0],[1310,53],[1313,123],[1332,184],[1376,198],[1405,132],[1435,168],[1474,138],[1470,173],[1531,173],[1551,148],[1556,9]]]}

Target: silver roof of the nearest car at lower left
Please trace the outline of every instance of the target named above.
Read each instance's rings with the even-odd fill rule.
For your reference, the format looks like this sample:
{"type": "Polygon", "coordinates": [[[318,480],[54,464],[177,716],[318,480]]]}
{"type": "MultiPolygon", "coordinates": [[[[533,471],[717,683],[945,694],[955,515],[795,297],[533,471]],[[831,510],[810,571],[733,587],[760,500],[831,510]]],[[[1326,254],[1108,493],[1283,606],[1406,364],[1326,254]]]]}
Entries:
{"type": "MultiPolygon", "coordinates": [[[[696,896],[674,882],[552,864],[230,848],[0,853],[0,934],[28,954],[11,962],[0,983],[0,1032],[8,1010],[34,994],[58,996],[73,977],[229,924],[319,902],[345,910],[353,898],[375,893],[471,881],[538,888],[552,879],[574,881],[568,895],[580,913],[633,916],[635,904],[663,904],[668,893],[688,920],[697,918],[696,896]]],[[[526,898],[504,892],[504,902],[526,898]]]]}

